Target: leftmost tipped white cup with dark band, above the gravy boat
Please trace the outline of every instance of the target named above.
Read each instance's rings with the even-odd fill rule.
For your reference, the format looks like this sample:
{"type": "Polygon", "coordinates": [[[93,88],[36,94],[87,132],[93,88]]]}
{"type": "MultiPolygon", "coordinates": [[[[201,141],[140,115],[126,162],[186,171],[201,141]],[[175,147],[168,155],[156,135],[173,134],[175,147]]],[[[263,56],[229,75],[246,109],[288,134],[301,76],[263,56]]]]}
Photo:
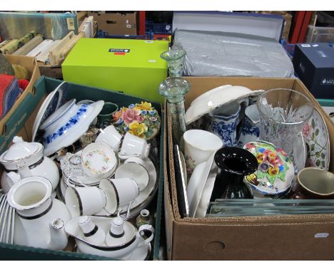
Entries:
{"type": "Polygon", "coordinates": [[[93,215],[106,206],[106,194],[98,187],[67,187],[65,204],[72,217],[93,215]]]}

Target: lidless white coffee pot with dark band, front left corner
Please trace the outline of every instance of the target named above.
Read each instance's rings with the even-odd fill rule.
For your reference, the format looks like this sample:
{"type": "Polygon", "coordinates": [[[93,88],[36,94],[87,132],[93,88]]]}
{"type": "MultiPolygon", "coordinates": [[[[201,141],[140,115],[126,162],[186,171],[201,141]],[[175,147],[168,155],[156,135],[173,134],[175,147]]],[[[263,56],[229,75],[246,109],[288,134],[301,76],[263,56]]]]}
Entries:
{"type": "Polygon", "coordinates": [[[14,244],[42,249],[65,249],[65,224],[71,219],[66,205],[51,197],[51,183],[44,177],[16,182],[7,201],[16,210],[14,244]]]}

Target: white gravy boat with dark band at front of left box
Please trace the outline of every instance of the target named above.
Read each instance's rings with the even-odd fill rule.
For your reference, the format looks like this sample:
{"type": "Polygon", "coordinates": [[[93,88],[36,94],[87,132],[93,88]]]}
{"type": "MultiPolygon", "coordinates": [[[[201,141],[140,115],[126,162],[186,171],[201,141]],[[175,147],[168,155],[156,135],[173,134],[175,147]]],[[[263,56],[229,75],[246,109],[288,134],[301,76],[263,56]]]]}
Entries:
{"type": "Polygon", "coordinates": [[[143,225],[137,230],[133,224],[119,216],[113,219],[89,216],[98,229],[102,229],[106,233],[106,241],[93,243],[87,241],[80,229],[81,217],[71,219],[65,226],[66,234],[74,236],[78,251],[81,253],[127,260],[131,258],[133,251],[139,248],[144,249],[153,240],[154,229],[151,225],[143,225]],[[144,230],[150,233],[147,238],[143,236],[144,230]]]}

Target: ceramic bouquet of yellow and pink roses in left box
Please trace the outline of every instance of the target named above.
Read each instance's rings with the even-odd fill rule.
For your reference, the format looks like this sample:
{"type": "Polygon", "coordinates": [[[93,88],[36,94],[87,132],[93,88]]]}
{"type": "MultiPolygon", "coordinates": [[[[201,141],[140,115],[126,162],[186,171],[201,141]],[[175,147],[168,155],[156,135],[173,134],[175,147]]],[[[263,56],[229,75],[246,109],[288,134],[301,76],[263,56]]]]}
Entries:
{"type": "Polygon", "coordinates": [[[129,132],[145,140],[155,137],[161,127],[158,111],[148,102],[121,108],[113,114],[112,122],[122,135],[129,132]]]}

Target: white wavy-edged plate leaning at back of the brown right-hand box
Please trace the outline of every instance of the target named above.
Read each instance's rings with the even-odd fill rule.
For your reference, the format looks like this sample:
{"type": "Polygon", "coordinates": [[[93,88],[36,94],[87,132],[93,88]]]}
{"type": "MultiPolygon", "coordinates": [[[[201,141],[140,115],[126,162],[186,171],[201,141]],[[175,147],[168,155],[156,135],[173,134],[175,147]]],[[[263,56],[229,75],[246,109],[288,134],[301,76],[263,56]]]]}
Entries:
{"type": "MultiPolygon", "coordinates": [[[[224,87],[224,86],[221,86],[224,87]]],[[[209,90],[206,95],[203,93],[203,97],[196,98],[196,103],[193,103],[186,111],[186,125],[198,120],[203,115],[210,113],[216,108],[221,107],[224,104],[231,103],[242,98],[247,98],[252,95],[259,95],[264,90],[250,90],[243,86],[232,86],[228,88],[216,88],[217,90],[209,90]]]]}

